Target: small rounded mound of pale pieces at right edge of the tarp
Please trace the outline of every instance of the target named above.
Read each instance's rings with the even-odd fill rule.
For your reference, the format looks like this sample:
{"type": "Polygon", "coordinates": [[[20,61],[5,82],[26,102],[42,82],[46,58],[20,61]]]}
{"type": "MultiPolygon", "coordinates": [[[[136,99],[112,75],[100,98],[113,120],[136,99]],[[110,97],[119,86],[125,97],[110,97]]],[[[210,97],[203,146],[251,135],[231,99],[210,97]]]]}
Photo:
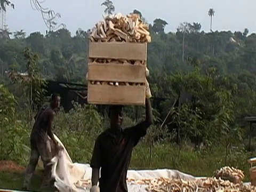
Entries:
{"type": "Polygon", "coordinates": [[[244,179],[244,173],[234,167],[225,166],[213,172],[214,177],[229,180],[233,183],[240,183],[244,179]]]}

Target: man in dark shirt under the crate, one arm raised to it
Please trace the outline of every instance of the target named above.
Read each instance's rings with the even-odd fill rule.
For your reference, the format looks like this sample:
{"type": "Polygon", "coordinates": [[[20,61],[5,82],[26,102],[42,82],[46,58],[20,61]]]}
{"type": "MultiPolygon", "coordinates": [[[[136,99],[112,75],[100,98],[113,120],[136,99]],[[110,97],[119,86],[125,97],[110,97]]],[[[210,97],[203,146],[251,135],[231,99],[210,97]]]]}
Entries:
{"type": "Polygon", "coordinates": [[[127,192],[126,175],[132,149],[145,136],[153,123],[150,100],[146,99],[146,119],[139,124],[122,129],[122,106],[110,110],[110,129],[101,133],[95,141],[91,167],[92,188],[98,185],[100,192],[127,192]],[[101,168],[101,169],[100,169],[101,168]],[[99,173],[101,177],[99,178],[99,173]]]}

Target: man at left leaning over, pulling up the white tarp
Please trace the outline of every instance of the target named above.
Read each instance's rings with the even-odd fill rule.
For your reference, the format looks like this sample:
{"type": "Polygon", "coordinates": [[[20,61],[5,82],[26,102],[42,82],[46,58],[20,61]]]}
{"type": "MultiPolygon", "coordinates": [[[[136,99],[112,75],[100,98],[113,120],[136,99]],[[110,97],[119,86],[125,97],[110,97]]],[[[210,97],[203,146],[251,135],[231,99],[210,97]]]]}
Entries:
{"type": "Polygon", "coordinates": [[[23,183],[23,189],[27,190],[30,183],[31,177],[35,172],[35,168],[41,156],[44,164],[44,178],[42,182],[42,188],[51,187],[51,159],[52,154],[52,143],[57,150],[62,149],[58,142],[55,140],[52,133],[52,121],[56,110],[60,106],[60,95],[58,93],[53,93],[51,95],[50,105],[42,106],[37,115],[35,116],[35,123],[30,134],[30,148],[31,154],[29,159],[29,164],[25,173],[25,181],[23,183]]]}

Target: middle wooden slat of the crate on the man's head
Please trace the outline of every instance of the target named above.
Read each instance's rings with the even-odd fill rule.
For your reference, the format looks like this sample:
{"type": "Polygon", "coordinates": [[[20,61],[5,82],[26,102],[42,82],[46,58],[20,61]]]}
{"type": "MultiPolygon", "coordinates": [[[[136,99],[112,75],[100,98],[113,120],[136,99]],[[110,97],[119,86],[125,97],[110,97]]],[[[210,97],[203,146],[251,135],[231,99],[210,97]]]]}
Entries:
{"type": "Polygon", "coordinates": [[[146,83],[146,66],[129,63],[89,63],[88,81],[146,83]]]}

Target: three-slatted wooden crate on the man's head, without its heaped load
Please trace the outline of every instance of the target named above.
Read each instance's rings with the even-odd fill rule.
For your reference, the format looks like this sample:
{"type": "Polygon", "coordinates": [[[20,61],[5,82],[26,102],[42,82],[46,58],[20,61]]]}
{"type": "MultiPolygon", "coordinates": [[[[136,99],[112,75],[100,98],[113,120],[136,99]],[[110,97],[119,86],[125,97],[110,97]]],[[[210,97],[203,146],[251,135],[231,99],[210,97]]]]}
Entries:
{"type": "MultiPolygon", "coordinates": [[[[90,42],[89,58],[146,61],[147,44],[90,42]]],[[[99,105],[145,105],[146,65],[89,62],[87,81],[87,101],[89,103],[99,105]],[[116,86],[91,84],[90,82],[127,82],[137,85],[116,86]]]]}

